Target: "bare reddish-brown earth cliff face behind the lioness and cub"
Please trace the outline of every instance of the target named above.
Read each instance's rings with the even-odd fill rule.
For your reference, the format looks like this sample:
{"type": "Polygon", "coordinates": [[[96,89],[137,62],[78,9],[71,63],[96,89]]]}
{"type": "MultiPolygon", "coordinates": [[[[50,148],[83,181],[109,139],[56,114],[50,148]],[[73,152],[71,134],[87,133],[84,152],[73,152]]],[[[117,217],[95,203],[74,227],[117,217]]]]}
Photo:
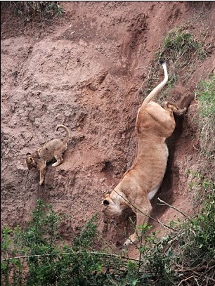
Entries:
{"type": "MultiPolygon", "coordinates": [[[[210,54],[193,65],[190,80],[183,80],[183,87],[170,97],[174,92],[180,100],[195,96],[197,83],[214,68],[215,5],[214,1],[61,5],[66,11],[62,20],[27,23],[10,7],[1,7],[1,226],[24,225],[41,198],[59,214],[67,214],[62,228],[67,239],[97,213],[103,238],[98,245],[107,242],[117,252],[132,225],[129,214],[117,226],[104,225],[102,193],[116,186],[134,160],[143,79],[164,34],[188,24],[188,30],[210,47],[210,54]],[[63,164],[49,165],[44,186],[39,186],[39,172],[27,170],[25,154],[64,136],[63,131],[55,133],[57,124],[67,125],[72,138],[63,164]]],[[[176,131],[168,141],[167,174],[157,195],[187,214],[197,205],[186,176],[188,168],[200,165],[196,110],[193,100],[186,115],[176,118],[176,131]]],[[[157,202],[155,197],[152,216],[161,223],[181,217],[157,202]]],[[[161,235],[166,231],[150,222],[161,235]]],[[[136,255],[133,246],[129,253],[136,255]]]]}

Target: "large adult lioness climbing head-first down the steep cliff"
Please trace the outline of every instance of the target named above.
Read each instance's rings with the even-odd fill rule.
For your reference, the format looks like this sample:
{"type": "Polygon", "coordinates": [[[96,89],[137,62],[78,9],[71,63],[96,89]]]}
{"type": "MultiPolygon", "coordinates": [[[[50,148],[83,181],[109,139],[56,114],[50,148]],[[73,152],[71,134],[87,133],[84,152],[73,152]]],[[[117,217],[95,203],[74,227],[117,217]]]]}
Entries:
{"type": "Polygon", "coordinates": [[[186,110],[174,103],[165,102],[162,108],[152,102],[168,81],[167,64],[164,61],[160,63],[164,80],[149,93],[138,110],[136,159],[115,189],[103,195],[104,221],[113,221],[126,207],[131,207],[136,213],[136,232],[130,235],[124,245],[135,242],[140,235],[140,226],[148,223],[152,209],[150,200],[161,186],[167,167],[168,149],[165,140],[175,129],[173,112],[182,115],[186,110]]]}

